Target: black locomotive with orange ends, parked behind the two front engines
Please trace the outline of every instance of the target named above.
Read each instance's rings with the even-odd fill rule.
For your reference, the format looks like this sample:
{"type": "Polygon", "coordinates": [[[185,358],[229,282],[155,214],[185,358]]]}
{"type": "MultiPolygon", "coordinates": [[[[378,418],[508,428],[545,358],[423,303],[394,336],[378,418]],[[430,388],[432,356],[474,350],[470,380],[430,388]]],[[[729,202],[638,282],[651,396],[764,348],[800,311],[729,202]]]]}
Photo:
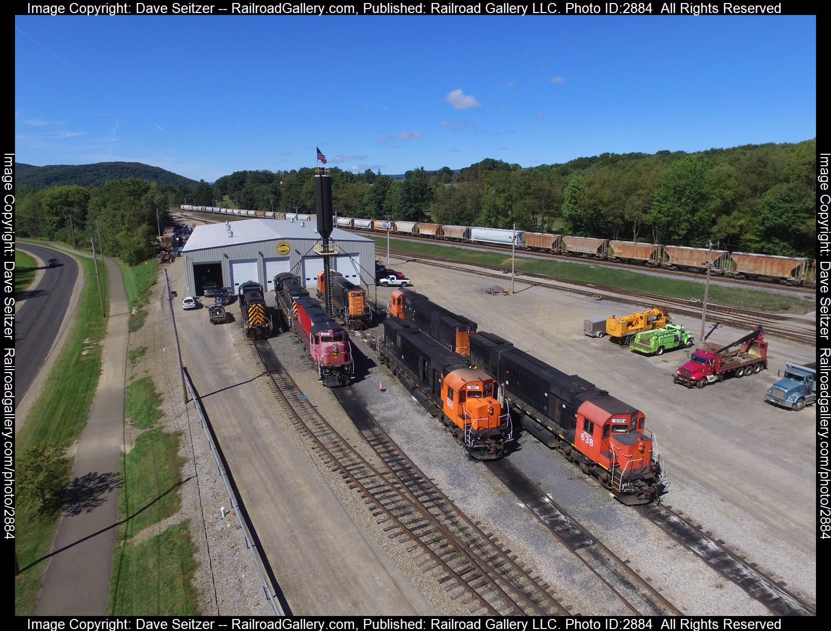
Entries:
{"type": "Polygon", "coordinates": [[[423,293],[396,289],[390,295],[392,318],[408,318],[445,348],[460,355],[470,355],[470,336],[476,323],[465,316],[440,307],[423,293]]]}

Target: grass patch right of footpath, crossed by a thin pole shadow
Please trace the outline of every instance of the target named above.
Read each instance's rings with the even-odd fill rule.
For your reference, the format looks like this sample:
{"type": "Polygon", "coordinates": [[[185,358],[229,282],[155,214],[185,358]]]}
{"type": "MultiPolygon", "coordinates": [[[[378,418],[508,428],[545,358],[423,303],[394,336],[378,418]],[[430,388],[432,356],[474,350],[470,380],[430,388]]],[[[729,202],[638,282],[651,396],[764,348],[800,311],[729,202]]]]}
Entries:
{"type": "Polygon", "coordinates": [[[178,451],[179,432],[154,427],[141,433],[130,453],[123,456],[118,510],[126,522],[119,528],[120,538],[129,540],[179,510],[184,458],[178,451]]]}

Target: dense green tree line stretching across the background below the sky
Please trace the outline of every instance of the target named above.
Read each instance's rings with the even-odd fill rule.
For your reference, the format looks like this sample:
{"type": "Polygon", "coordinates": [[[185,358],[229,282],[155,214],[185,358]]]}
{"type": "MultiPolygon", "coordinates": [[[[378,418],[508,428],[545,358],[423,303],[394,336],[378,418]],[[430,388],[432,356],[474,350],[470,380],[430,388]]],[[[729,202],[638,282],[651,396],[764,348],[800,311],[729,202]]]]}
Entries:
{"type": "MultiPolygon", "coordinates": [[[[694,154],[602,154],[521,168],[486,158],[460,170],[390,177],[337,167],[337,214],[433,221],[604,239],[812,256],[816,140],[694,154]]],[[[101,230],[106,254],[128,263],[153,254],[155,209],[181,204],[314,213],[314,170],[241,170],[209,184],[140,178],[97,186],[18,189],[17,233],[70,243],[101,230]],[[70,219],[70,217],[72,219],[70,219]],[[70,224],[70,221],[73,222],[70,224]],[[77,236],[76,236],[77,238],[77,236]]]]}

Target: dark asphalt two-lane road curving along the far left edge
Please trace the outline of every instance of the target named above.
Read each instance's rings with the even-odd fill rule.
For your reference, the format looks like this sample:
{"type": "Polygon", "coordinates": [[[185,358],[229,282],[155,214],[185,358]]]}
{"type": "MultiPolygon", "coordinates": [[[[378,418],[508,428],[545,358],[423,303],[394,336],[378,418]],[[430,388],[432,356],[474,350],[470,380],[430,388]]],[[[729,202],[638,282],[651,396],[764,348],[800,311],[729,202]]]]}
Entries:
{"type": "MultiPolygon", "coordinates": [[[[26,395],[37,372],[47,360],[69,307],[78,276],[78,264],[69,254],[32,244],[17,244],[17,249],[35,254],[44,261],[59,259],[62,265],[44,270],[40,283],[23,293],[26,299],[15,313],[15,407],[26,395]]],[[[21,298],[17,296],[18,303],[21,298]]]]}

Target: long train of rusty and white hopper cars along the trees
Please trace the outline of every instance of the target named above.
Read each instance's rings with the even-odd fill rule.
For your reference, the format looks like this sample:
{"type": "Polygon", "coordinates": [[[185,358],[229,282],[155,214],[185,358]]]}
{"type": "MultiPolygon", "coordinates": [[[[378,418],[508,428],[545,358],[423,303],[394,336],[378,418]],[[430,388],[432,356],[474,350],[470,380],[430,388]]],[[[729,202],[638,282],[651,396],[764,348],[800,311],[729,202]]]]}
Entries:
{"type": "MultiPolygon", "coordinates": [[[[182,205],[182,210],[231,214],[268,219],[310,220],[311,215],[263,210],[240,210],[214,206],[182,205]]],[[[378,221],[337,217],[337,227],[379,233],[397,233],[427,239],[446,239],[511,247],[514,238],[519,249],[551,252],[566,256],[605,259],[664,269],[684,269],[729,276],[735,279],[774,280],[787,285],[812,285],[815,264],[810,259],[772,254],[749,254],[726,249],[688,248],[681,245],[642,244],[617,239],[597,239],[568,234],[548,234],[525,230],[477,228],[464,225],[429,224],[416,221],[378,221]],[[711,259],[710,259],[711,256],[711,259]]]]}

